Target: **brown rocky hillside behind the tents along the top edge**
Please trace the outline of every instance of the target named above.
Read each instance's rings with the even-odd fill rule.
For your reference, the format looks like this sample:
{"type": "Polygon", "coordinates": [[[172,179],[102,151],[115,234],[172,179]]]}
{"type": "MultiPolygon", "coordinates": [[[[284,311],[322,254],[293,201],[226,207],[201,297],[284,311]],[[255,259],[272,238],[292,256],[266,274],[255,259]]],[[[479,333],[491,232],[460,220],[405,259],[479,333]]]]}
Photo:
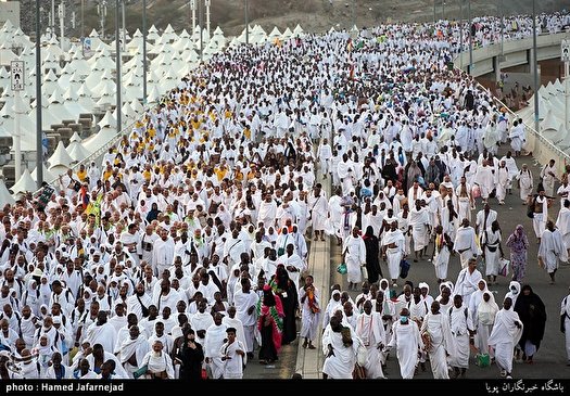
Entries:
{"type": "MultiPolygon", "coordinates": [[[[84,4],[84,34],[93,28],[101,31],[101,20],[97,4],[103,0],[55,0],[66,3],[66,35],[81,36],[81,3],[84,4]],[[75,28],[72,27],[72,12],[76,13],[75,28]]],[[[119,0],[123,1],[123,0],[119,0]]],[[[132,33],[142,26],[142,1],[124,0],[126,4],[127,29],[132,33]]],[[[203,1],[203,0],[198,0],[203,1]]],[[[460,0],[249,0],[250,24],[259,24],[267,33],[277,26],[284,29],[300,24],[305,30],[325,31],[331,26],[346,28],[356,23],[357,26],[372,26],[387,21],[432,21],[438,18],[459,17],[460,0]]],[[[464,17],[467,18],[467,3],[464,2],[464,17]]],[[[22,26],[29,34],[35,29],[35,0],[21,0],[22,26]]],[[[148,26],[155,25],[164,29],[172,24],[175,30],[191,26],[189,0],[147,0],[148,26]]],[[[471,15],[501,14],[502,3],[506,14],[531,13],[532,0],[472,0],[471,15]]],[[[42,1],[42,23],[48,24],[48,12],[51,1],[42,1]]],[[[107,14],[104,21],[105,31],[114,33],[115,1],[106,0],[107,14]]],[[[212,0],[212,26],[220,26],[226,35],[237,35],[244,28],[245,0],[212,0]]],[[[552,12],[570,9],[570,0],[536,1],[537,12],[552,12]]],[[[205,16],[204,16],[205,21],[205,16]]],[[[59,22],[56,24],[59,26],[59,22]]],[[[59,31],[59,30],[58,30],[59,31]]]]}

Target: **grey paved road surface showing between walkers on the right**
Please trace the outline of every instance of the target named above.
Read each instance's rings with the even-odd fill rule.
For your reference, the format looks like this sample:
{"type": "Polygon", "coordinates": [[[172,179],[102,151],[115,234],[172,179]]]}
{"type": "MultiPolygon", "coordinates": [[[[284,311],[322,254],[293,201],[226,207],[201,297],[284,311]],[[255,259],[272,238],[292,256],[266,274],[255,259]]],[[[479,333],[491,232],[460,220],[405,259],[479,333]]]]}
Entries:
{"type": "MultiPolygon", "coordinates": [[[[499,157],[503,156],[503,154],[506,152],[507,148],[499,151],[499,157]]],[[[539,174],[541,171],[540,166],[534,165],[534,159],[532,157],[521,157],[517,158],[517,166],[521,167],[521,165],[525,163],[529,165],[529,168],[531,169],[535,183],[534,186],[537,186],[537,178],[539,174]]],[[[556,189],[555,189],[556,192],[556,189]]],[[[514,189],[512,195],[507,195],[505,200],[505,205],[498,205],[498,202],[496,200],[490,200],[491,207],[494,210],[497,210],[498,213],[498,221],[501,223],[501,228],[503,231],[503,239],[504,242],[506,242],[506,239],[512,232],[515,227],[519,223],[522,223],[524,227],[524,230],[528,232],[529,235],[529,242],[531,244],[529,250],[529,263],[527,265],[527,278],[525,281],[529,282],[533,291],[541,296],[544,304],[546,305],[547,309],[547,323],[546,323],[546,332],[544,335],[543,343],[541,345],[540,350],[535,355],[534,363],[533,365],[527,365],[522,361],[516,361],[512,370],[514,378],[522,378],[522,379],[543,379],[543,378],[569,378],[570,376],[570,367],[566,366],[567,358],[566,358],[566,349],[565,349],[565,341],[563,341],[563,334],[559,331],[559,323],[560,323],[560,301],[568,294],[568,286],[570,284],[570,266],[561,266],[561,268],[558,270],[556,278],[557,283],[555,285],[548,284],[549,278],[546,271],[539,267],[537,260],[536,260],[536,254],[537,254],[537,244],[536,239],[534,238],[534,232],[532,229],[532,219],[527,217],[525,206],[521,204],[521,201],[519,199],[519,190],[514,189]]],[[[474,215],[477,210],[480,210],[482,208],[481,200],[479,200],[477,204],[477,209],[473,212],[472,218],[474,221],[474,215]]],[[[552,208],[549,209],[550,216],[556,219],[556,216],[558,216],[558,209],[559,209],[559,200],[556,200],[556,202],[553,204],[552,208]]],[[[505,247],[505,246],[504,246],[505,247]]],[[[428,248],[428,252],[432,252],[433,247],[432,244],[428,248]]],[[[335,268],[335,266],[340,263],[340,250],[334,246],[331,252],[331,268],[335,268]]],[[[508,256],[508,248],[505,247],[505,253],[508,256]]],[[[426,259],[420,260],[419,263],[410,263],[413,268],[409,272],[409,276],[407,279],[414,282],[414,284],[418,284],[420,281],[427,281],[430,285],[430,290],[434,291],[438,289],[438,283],[435,279],[435,273],[433,270],[433,266],[431,263],[428,263],[426,259]]],[[[381,263],[382,272],[384,274],[388,274],[388,267],[384,263],[381,263]]],[[[458,261],[458,257],[452,257],[449,260],[449,271],[448,271],[448,279],[452,280],[454,283],[457,280],[457,274],[460,270],[460,265],[458,261]]],[[[510,282],[510,277],[498,279],[498,284],[490,286],[490,290],[495,291],[495,299],[497,304],[501,307],[501,304],[503,302],[503,298],[505,294],[507,293],[508,283],[510,282]]],[[[341,277],[337,272],[331,273],[331,281],[330,284],[340,283],[342,284],[343,289],[347,289],[347,282],[346,282],[346,276],[341,277]]],[[[403,283],[403,280],[401,279],[400,284],[403,283]]],[[[401,289],[401,288],[400,288],[401,289]]],[[[351,295],[353,298],[356,297],[358,292],[351,292],[351,295]]],[[[433,297],[436,296],[436,294],[431,293],[433,297]]],[[[328,296],[325,301],[328,301],[328,296]]],[[[388,362],[388,376],[390,379],[400,379],[400,369],[396,363],[395,355],[392,354],[393,357],[388,362]]],[[[491,366],[485,369],[480,369],[479,367],[474,366],[474,359],[471,357],[470,360],[470,368],[467,373],[468,378],[471,379],[498,379],[499,378],[499,370],[496,366],[491,366]]],[[[430,371],[430,368],[428,367],[428,371],[425,373],[421,373],[421,371],[418,373],[417,378],[419,379],[431,379],[432,374],[430,371]]]]}

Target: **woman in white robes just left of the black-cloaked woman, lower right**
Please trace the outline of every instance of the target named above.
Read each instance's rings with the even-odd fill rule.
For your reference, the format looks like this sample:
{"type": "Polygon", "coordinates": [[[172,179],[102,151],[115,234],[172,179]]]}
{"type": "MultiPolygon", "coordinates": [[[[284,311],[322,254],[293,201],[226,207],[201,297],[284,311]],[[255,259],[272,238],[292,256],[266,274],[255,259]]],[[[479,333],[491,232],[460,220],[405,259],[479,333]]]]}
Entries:
{"type": "Polygon", "coordinates": [[[522,322],[512,309],[512,301],[506,297],[503,309],[495,316],[495,324],[487,341],[489,346],[495,349],[495,361],[501,369],[501,376],[512,379],[512,355],[521,335],[522,322]]]}

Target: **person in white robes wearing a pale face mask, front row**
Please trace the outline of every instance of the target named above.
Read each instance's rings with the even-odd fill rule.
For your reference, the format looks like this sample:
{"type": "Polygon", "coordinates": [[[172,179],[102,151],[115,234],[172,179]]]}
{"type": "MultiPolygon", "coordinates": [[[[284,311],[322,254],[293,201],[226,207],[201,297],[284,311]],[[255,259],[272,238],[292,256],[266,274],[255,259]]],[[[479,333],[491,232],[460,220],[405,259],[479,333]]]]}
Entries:
{"type": "Polygon", "coordinates": [[[411,380],[423,348],[423,342],[419,335],[419,328],[409,320],[407,308],[402,308],[400,319],[392,327],[392,340],[388,348],[393,347],[396,348],[400,374],[404,380],[411,380]]]}

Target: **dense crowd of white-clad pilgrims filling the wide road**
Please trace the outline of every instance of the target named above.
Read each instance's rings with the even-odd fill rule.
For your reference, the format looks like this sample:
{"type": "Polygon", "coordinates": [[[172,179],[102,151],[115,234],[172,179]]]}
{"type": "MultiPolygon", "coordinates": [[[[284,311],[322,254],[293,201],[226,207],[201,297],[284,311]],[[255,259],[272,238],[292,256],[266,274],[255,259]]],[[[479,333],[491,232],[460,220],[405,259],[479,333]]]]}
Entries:
{"type": "MultiPolygon", "coordinates": [[[[557,29],[567,16],[548,18],[557,29]]],[[[528,35],[528,20],[509,20],[509,37],[528,35]]],[[[476,23],[481,44],[497,39],[496,18],[476,23]]],[[[389,334],[402,308],[391,302],[401,260],[413,252],[423,259],[432,241],[442,311],[461,296],[474,329],[479,309],[496,305],[470,263],[487,248],[493,282],[503,256],[490,250],[501,241],[496,212],[472,216],[474,200],[503,203],[519,180],[527,201],[532,176],[514,159],[524,129],[447,67],[457,25],[393,27],[219,53],[145,112],[101,165],[62,175],[48,200],[28,194],[4,206],[0,374],[242,378],[248,360],[274,362],[297,335],[320,347],[322,323],[326,355],[351,325],[368,350],[367,376],[383,376],[388,346],[398,342],[389,334]],[[507,140],[514,155],[499,159],[507,140]],[[328,305],[320,299],[307,242],[326,238],[342,246],[350,289],[366,281],[371,293],[352,301],[335,288],[328,305]],[[469,270],[455,288],[452,252],[469,270]],[[389,276],[380,281],[381,259],[389,276]],[[372,331],[365,319],[375,312],[384,325],[372,331]],[[370,347],[375,337],[383,348],[370,347]]],[[[404,301],[411,292],[404,288],[404,301]]],[[[328,357],[324,372],[338,376],[342,366],[328,357]]]]}

